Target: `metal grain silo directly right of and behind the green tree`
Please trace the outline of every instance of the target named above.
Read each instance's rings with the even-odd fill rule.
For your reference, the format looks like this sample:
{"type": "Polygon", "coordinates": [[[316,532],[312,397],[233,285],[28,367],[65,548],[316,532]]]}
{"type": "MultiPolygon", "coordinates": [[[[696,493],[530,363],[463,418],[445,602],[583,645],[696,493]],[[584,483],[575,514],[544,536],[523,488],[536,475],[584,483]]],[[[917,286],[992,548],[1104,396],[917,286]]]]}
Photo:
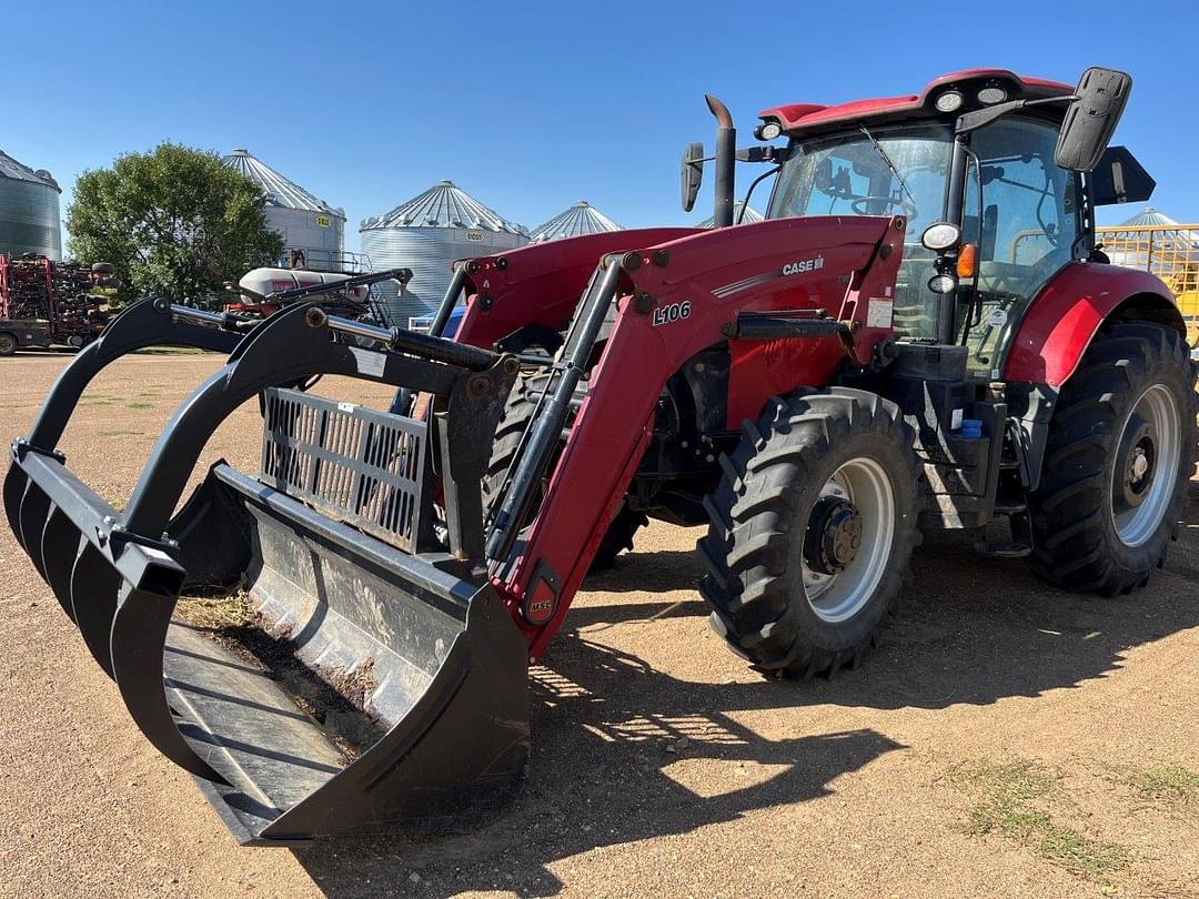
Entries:
{"type": "MultiPolygon", "coordinates": [[[[282,235],[284,251],[303,251],[305,265],[317,271],[347,269],[345,212],[305,191],[255,157],[237,149],[224,164],[248,177],[266,194],[266,222],[282,235]]],[[[283,259],[287,260],[287,252],[283,259]]]]}

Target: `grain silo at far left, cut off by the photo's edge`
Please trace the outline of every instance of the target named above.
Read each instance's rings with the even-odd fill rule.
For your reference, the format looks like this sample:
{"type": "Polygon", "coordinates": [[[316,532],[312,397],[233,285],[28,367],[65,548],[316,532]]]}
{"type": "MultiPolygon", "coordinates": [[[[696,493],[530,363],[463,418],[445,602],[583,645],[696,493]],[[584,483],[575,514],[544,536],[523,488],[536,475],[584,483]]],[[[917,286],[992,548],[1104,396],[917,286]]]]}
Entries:
{"type": "Polygon", "coordinates": [[[35,171],[0,150],[0,253],[61,259],[61,193],[49,171],[35,171]]]}

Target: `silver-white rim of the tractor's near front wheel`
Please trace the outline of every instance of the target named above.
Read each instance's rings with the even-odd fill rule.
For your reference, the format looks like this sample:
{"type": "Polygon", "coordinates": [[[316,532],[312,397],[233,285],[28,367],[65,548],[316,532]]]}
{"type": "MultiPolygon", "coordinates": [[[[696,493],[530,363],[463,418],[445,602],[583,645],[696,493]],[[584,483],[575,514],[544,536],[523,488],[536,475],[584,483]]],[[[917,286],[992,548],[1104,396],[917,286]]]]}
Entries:
{"type": "MultiPolygon", "coordinates": [[[[803,555],[803,589],[808,605],[821,621],[831,625],[851,619],[874,596],[887,569],[891,544],[894,542],[894,488],[891,478],[873,459],[850,459],[838,467],[820,490],[820,499],[809,513],[809,538],[815,541],[813,526],[829,526],[829,515],[820,515],[821,502],[846,502],[860,515],[861,538],[852,559],[845,561],[840,571],[825,573],[813,565],[809,553],[803,555]]],[[[830,505],[825,502],[825,508],[830,505]]],[[[843,523],[835,518],[832,524],[843,523]]],[[[842,525],[845,526],[844,524],[842,525]]]]}

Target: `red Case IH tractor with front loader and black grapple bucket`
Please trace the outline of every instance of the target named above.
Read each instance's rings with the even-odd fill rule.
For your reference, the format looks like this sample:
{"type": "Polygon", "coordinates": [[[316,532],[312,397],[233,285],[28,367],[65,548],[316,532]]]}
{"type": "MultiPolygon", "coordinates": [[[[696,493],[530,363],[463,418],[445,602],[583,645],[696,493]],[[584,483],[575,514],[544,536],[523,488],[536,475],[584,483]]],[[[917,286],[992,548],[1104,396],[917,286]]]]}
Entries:
{"type": "MultiPolygon", "coordinates": [[[[1175,535],[1197,409],[1169,291],[1093,245],[1096,205],[1152,187],[1107,147],[1129,86],[958,72],[767,109],[766,145],[740,151],[710,98],[715,230],[468,260],[429,334],[311,302],[260,321],[144,302],[13,444],[8,521],[138,726],[263,845],[501,804],[529,756],[528,663],[649,517],[707,525],[712,625],[775,675],[855,665],[922,532],[1131,592],[1175,535]],[[733,225],[739,158],[777,169],[766,221],[733,225]],[[116,511],[56,444],[92,376],[155,343],[229,361],[116,511]],[[314,396],[324,373],[396,399],[314,396]],[[261,470],[218,463],[175,512],[255,396],[261,470]],[[230,589],[242,619],[210,639],[180,596],[230,589]]],[[[687,206],[703,163],[692,145],[687,206]]]]}

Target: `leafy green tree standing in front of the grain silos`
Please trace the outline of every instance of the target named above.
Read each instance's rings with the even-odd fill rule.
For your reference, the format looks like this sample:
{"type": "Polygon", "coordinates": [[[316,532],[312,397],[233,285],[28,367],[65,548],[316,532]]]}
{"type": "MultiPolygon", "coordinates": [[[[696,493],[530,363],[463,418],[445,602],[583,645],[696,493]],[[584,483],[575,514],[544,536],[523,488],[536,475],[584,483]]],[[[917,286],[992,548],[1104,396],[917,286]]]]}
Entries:
{"type": "Polygon", "coordinates": [[[71,252],[116,266],[120,303],[163,296],[209,306],[222,284],[283,252],[265,199],[216,153],[159,144],[79,176],[67,209],[71,252]]]}

